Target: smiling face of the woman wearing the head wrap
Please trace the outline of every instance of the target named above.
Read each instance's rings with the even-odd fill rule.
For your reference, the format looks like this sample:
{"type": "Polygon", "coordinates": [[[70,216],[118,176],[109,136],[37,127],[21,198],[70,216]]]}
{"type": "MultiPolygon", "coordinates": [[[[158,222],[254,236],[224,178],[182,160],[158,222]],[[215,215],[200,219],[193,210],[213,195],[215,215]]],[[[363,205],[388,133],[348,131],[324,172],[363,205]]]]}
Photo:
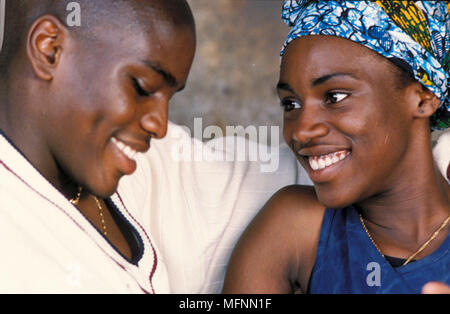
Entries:
{"type": "Polygon", "coordinates": [[[392,67],[337,37],[301,37],[285,52],[278,85],[284,137],[327,207],[386,192],[405,169],[407,96],[392,67]]]}

